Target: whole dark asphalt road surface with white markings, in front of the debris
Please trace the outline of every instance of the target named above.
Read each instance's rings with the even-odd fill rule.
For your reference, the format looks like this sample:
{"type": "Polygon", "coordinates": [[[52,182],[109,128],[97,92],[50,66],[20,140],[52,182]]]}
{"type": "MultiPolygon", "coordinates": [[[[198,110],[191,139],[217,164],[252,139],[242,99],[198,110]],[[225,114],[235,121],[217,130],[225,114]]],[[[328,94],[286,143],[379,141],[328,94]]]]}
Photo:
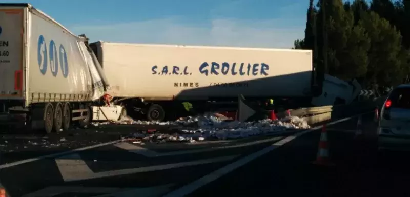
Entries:
{"type": "MultiPolygon", "coordinates": [[[[363,116],[367,139],[374,130],[372,117],[363,116]]],[[[191,196],[374,196],[383,192],[409,196],[403,187],[410,179],[410,170],[406,170],[409,162],[403,160],[406,154],[377,157],[371,140],[355,138],[356,124],[357,119],[352,119],[327,127],[332,167],[311,164],[319,130],[296,137],[284,133],[196,145],[124,141],[62,157],[0,166],[0,181],[12,196],[161,196],[187,191],[190,183],[197,182],[209,183],[195,188],[197,184],[191,196]],[[286,139],[292,140],[243,166],[235,165],[286,139]],[[227,166],[235,167],[226,175],[215,173],[227,166]]],[[[13,162],[16,157],[10,153],[3,160],[13,162]]]]}

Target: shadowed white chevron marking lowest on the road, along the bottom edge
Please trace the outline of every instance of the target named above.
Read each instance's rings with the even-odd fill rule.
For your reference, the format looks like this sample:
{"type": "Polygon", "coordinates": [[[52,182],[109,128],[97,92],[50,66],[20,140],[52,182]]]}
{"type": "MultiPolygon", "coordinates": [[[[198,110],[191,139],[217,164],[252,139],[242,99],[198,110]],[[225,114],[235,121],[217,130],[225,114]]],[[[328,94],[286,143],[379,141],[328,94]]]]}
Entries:
{"type": "MultiPolygon", "coordinates": [[[[81,186],[52,186],[47,187],[26,195],[23,197],[52,197],[64,193],[87,193],[87,194],[104,194],[103,196],[119,196],[118,194],[128,194],[129,192],[138,193],[138,196],[152,197],[166,193],[170,190],[173,184],[161,185],[147,188],[116,188],[116,187],[81,187],[81,186]]],[[[135,194],[134,194],[135,195],[135,194]]],[[[121,195],[130,196],[130,195],[121,195]]]]}

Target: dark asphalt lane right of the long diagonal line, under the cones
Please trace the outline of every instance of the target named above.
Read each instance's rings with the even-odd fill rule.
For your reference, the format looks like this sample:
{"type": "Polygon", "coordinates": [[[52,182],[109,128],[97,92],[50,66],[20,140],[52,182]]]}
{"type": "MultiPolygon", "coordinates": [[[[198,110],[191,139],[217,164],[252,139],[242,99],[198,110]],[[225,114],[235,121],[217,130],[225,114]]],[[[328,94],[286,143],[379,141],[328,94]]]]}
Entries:
{"type": "Polygon", "coordinates": [[[315,160],[320,132],[305,134],[261,156],[189,196],[410,196],[410,154],[379,155],[372,136],[372,116],[365,116],[364,135],[350,129],[357,120],[329,127],[333,166],[315,160]]]}

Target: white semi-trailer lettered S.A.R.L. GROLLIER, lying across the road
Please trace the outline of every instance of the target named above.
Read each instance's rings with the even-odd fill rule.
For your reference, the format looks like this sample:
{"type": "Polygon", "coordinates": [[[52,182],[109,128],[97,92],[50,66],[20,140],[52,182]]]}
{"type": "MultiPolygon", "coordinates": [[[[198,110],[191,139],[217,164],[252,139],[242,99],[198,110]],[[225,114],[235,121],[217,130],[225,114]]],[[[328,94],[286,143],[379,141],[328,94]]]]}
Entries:
{"type": "MultiPolygon", "coordinates": [[[[110,82],[112,103],[161,121],[189,101],[286,99],[286,106],[311,103],[311,50],[127,44],[98,41],[90,47],[110,82]]],[[[320,92],[319,92],[320,94],[320,92]]]]}

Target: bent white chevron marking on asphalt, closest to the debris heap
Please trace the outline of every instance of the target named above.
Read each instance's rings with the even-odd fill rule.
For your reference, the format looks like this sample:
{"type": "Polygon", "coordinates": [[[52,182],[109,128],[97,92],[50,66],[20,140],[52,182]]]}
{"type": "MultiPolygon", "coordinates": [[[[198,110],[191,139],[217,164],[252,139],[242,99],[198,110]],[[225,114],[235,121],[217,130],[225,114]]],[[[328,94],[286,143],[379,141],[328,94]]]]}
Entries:
{"type": "Polygon", "coordinates": [[[279,139],[282,139],[282,138],[283,137],[272,137],[270,139],[264,139],[264,140],[247,142],[247,143],[240,143],[240,144],[232,145],[232,146],[220,146],[220,147],[214,147],[214,148],[203,148],[203,149],[196,149],[196,150],[182,150],[182,151],[172,151],[172,152],[155,152],[153,150],[149,150],[144,147],[133,145],[133,144],[126,143],[126,142],[117,143],[117,144],[114,144],[114,146],[124,149],[124,150],[128,150],[129,152],[132,152],[132,153],[142,154],[146,157],[160,157],[160,156],[175,156],[175,155],[181,155],[181,154],[211,152],[211,151],[227,149],[227,148],[240,148],[240,147],[245,147],[245,146],[262,144],[266,142],[278,141],[279,139]]]}

